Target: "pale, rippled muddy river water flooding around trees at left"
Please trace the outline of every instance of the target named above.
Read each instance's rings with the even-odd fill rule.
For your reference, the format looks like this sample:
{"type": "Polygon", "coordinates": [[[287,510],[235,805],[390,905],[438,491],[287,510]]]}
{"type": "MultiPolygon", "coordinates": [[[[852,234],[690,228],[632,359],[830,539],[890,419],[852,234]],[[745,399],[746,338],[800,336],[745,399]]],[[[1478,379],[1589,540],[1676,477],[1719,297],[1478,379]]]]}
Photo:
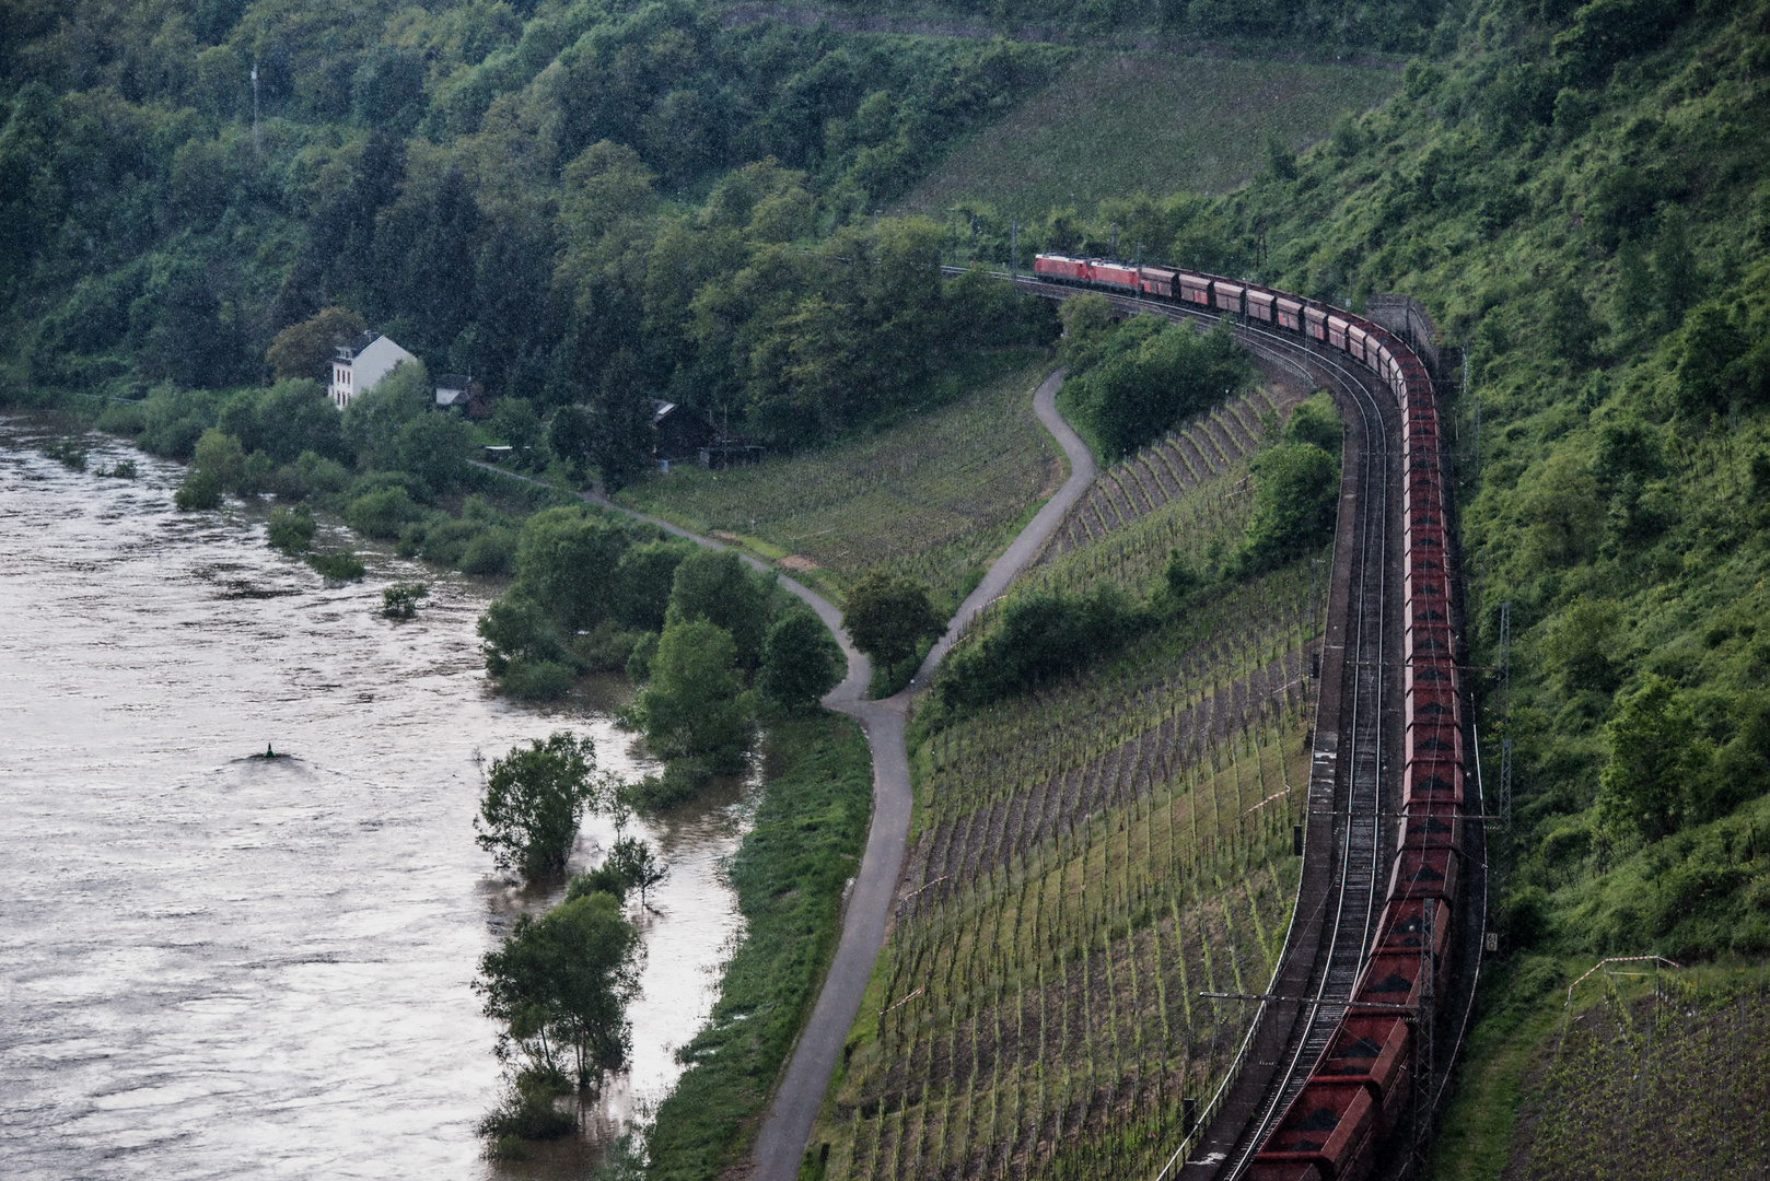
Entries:
{"type": "MultiPolygon", "coordinates": [[[[473,841],[476,756],[568,728],[635,776],[630,735],[487,692],[494,584],[368,552],[327,590],[266,506],[179,513],[181,467],[90,436],[140,478],[71,471],[50,437],[0,418],[0,1174],[577,1176],[595,1135],[492,1165],[473,1131],[476,961],[547,903],[473,841]],[[405,623],[379,614],[400,579],[432,588],[405,623]]],[[[749,793],[639,825],[673,873],[604,1123],[667,1092],[712,1006],[749,793]]],[[[577,862],[611,841],[586,820],[577,862]]]]}

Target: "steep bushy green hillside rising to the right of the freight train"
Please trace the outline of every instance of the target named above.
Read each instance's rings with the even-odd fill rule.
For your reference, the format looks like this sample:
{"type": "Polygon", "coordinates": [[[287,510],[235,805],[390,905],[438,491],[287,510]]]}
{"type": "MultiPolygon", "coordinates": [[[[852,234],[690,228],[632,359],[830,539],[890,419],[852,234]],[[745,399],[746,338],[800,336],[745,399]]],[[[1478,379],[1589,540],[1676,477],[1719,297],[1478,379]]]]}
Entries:
{"type": "MultiPolygon", "coordinates": [[[[1510,715],[1476,691],[1490,793],[1515,744],[1513,825],[1444,1176],[1600,1176],[1586,1149],[1533,1163],[1570,1115],[1519,1119],[1556,1101],[1570,974],[1660,953],[1756,977],[1770,951],[1766,34],[1765,4],[1474,4],[1329,142],[1138,214],[1175,262],[1354,308],[1409,292],[1467,342],[1473,384],[1441,397],[1476,666],[1510,604],[1510,715]]],[[[1680,1176],[1669,1126],[1634,1135],[1667,1162],[1639,1176],[1680,1176]]]]}

